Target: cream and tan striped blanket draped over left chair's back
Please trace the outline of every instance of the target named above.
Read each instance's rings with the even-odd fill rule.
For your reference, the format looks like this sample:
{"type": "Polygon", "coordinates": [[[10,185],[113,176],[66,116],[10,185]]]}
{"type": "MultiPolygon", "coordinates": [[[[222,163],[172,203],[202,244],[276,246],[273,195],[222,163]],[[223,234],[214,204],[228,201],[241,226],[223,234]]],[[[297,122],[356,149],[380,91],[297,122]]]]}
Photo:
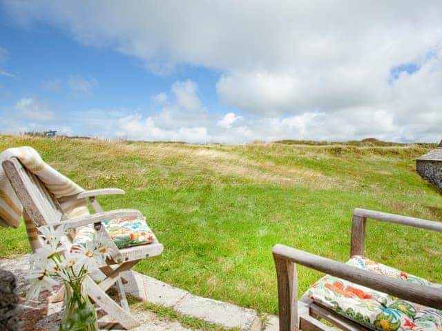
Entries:
{"type": "MultiPolygon", "coordinates": [[[[27,146],[9,148],[0,154],[0,164],[12,157],[19,159],[26,169],[35,174],[56,198],[84,191],[79,185],[44,162],[34,148],[27,146]]],[[[89,214],[86,199],[70,199],[60,205],[68,218],[89,214]]],[[[22,213],[23,207],[19,198],[12,189],[3,167],[0,166],[0,225],[18,228],[22,213]]],[[[26,227],[28,228],[28,223],[26,223],[26,227]]]]}

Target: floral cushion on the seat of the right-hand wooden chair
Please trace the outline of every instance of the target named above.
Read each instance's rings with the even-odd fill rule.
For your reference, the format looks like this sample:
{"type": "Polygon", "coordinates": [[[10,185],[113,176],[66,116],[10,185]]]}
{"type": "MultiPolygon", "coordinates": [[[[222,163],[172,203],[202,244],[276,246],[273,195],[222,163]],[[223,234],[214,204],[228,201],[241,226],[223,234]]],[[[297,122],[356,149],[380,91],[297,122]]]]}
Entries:
{"type": "MultiPolygon", "coordinates": [[[[352,257],[347,264],[401,281],[442,288],[440,284],[430,283],[366,257],[352,257]]],[[[307,295],[325,308],[372,330],[442,330],[442,310],[398,299],[328,274],[311,285],[307,295]]]]}

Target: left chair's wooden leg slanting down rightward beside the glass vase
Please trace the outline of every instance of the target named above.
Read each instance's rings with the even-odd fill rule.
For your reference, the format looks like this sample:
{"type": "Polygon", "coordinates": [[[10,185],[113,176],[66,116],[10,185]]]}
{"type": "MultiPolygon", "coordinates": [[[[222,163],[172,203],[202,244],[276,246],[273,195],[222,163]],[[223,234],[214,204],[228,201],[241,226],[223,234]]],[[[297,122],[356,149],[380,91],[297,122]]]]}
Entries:
{"type": "Polygon", "coordinates": [[[117,305],[117,303],[113,301],[104,290],[99,288],[99,285],[97,285],[90,276],[86,277],[86,287],[89,297],[92,298],[93,301],[95,301],[95,303],[97,303],[97,305],[99,305],[99,307],[102,308],[102,310],[104,310],[104,312],[106,312],[112,319],[122,325],[123,328],[130,330],[140,325],[130,312],[117,305]]]}

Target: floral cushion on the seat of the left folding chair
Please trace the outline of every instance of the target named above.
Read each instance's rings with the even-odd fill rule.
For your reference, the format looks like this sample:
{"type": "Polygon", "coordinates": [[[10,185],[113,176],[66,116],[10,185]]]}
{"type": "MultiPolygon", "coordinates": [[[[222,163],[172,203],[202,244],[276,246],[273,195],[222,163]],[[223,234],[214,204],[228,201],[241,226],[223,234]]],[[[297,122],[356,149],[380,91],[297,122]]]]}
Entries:
{"type": "MultiPolygon", "coordinates": [[[[122,217],[102,221],[111,239],[117,248],[151,243],[155,240],[155,234],[146,224],[144,217],[122,217]]],[[[94,235],[93,225],[82,226],[77,229],[71,250],[75,251],[79,245],[86,245],[92,241],[94,235]]]]}

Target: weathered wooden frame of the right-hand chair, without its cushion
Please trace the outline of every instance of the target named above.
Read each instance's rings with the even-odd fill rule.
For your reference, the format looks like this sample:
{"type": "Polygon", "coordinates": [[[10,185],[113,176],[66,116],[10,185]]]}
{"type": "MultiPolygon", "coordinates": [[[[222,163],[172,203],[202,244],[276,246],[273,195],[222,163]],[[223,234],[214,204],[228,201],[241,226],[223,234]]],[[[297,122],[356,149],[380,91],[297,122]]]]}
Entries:
{"type": "MultiPolygon", "coordinates": [[[[374,210],[365,210],[356,208],[352,220],[352,247],[350,255],[363,255],[365,246],[365,228],[367,218],[379,221],[387,221],[390,223],[398,223],[402,225],[422,228],[425,230],[433,230],[442,232],[442,223],[436,221],[427,221],[425,219],[416,219],[414,217],[405,217],[396,214],[388,214],[385,212],[377,212],[374,210]]],[[[401,299],[413,301],[421,305],[427,305],[432,308],[442,308],[442,290],[438,288],[429,288],[423,285],[413,283],[405,283],[381,274],[369,272],[359,268],[346,265],[314,254],[302,252],[285,245],[275,245],[273,247],[273,259],[276,263],[276,272],[278,276],[278,299],[280,306],[280,330],[302,330],[302,331],[319,331],[333,330],[324,323],[315,318],[323,318],[342,330],[346,331],[367,331],[363,325],[360,325],[345,317],[314,303],[309,297],[304,296],[298,304],[294,305],[289,301],[292,288],[296,288],[296,274],[294,275],[294,283],[292,288],[288,285],[289,277],[287,276],[287,263],[298,263],[309,268],[332,274],[347,281],[352,281],[373,290],[392,294],[401,299]],[[291,312],[289,312],[291,310],[291,312]],[[293,313],[298,314],[296,323],[293,322],[293,313]]]]}

